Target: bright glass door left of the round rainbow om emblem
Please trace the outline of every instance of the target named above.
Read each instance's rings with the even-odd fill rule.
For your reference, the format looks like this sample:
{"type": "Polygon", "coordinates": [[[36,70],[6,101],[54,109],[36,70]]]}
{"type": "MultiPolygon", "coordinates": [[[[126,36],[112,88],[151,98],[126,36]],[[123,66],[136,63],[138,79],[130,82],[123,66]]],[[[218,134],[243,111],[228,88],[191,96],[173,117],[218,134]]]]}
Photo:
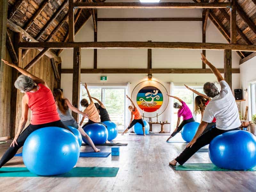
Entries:
{"type": "MultiPolygon", "coordinates": [[[[124,130],[126,122],[126,86],[88,86],[88,89],[92,97],[99,99],[104,104],[111,121],[117,125],[118,130],[124,130]]],[[[87,99],[89,101],[84,86],[81,86],[80,90],[80,100],[87,99]]],[[[83,111],[84,107],[80,106],[80,110],[83,111]]],[[[81,119],[82,116],[80,115],[79,120],[81,121],[81,119]]],[[[88,119],[85,119],[83,124],[87,121],[88,119]]]]}

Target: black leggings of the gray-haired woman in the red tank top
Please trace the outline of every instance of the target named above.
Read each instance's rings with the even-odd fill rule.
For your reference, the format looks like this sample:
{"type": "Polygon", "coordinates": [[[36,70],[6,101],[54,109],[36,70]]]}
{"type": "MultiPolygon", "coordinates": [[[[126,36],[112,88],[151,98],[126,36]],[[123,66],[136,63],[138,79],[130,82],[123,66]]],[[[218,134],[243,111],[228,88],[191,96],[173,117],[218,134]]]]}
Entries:
{"type": "Polygon", "coordinates": [[[40,124],[40,125],[29,124],[28,127],[18,137],[18,139],[17,139],[18,145],[15,144],[14,147],[13,146],[9,147],[7,149],[7,151],[4,153],[4,155],[2,156],[2,158],[0,160],[0,168],[4,164],[6,164],[17,153],[19,148],[21,148],[24,145],[25,140],[28,138],[30,133],[32,133],[33,131],[36,131],[37,129],[44,128],[44,127],[61,127],[61,128],[64,128],[64,129],[67,129],[68,131],[70,131],[70,129],[66,125],[64,125],[60,120],[54,121],[51,123],[40,124]]]}

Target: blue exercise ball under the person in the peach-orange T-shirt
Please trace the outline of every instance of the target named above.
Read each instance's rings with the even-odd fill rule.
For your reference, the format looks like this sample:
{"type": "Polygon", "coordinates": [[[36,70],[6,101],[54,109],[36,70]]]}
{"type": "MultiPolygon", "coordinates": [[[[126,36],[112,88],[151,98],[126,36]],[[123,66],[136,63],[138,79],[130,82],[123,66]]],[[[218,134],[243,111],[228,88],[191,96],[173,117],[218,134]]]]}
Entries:
{"type": "MultiPolygon", "coordinates": [[[[92,139],[92,142],[97,144],[103,144],[108,139],[108,130],[103,124],[93,123],[86,125],[84,131],[92,139]]],[[[86,143],[86,140],[83,138],[83,141],[86,143]]]]}

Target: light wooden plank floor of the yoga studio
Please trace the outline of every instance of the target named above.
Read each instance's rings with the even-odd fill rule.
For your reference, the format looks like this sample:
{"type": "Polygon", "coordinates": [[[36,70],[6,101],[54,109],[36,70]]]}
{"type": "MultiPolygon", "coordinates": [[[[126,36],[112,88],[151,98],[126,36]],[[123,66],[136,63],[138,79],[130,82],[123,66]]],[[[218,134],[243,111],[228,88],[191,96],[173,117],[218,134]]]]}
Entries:
{"type": "MultiPolygon", "coordinates": [[[[76,166],[119,167],[114,178],[0,178],[1,191],[256,191],[256,172],[174,171],[168,162],[176,157],[185,143],[166,143],[168,136],[118,135],[128,146],[120,147],[120,156],[80,158],[76,166]]],[[[176,136],[179,140],[180,134],[176,136]]],[[[173,138],[175,139],[175,138],[173,138]]],[[[0,145],[0,156],[8,144],[0,145]]],[[[110,152],[111,147],[100,147],[110,152]]],[[[82,147],[81,151],[91,151],[82,147]]],[[[188,162],[209,163],[208,153],[196,153],[188,162]]],[[[23,167],[21,157],[14,157],[5,166],[23,167]]]]}

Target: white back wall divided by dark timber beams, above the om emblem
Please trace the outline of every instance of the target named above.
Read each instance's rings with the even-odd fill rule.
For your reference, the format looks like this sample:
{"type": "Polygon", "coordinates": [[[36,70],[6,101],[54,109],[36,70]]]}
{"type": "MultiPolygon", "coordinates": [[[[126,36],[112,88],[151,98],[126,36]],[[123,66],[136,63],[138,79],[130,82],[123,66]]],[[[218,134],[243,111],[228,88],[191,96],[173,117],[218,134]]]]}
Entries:
{"type": "MultiPolygon", "coordinates": [[[[108,1],[109,2],[109,1],[108,1]]],[[[98,17],[202,17],[201,9],[101,9],[98,17]]],[[[98,22],[98,41],[169,41],[202,42],[202,22],[98,22]]],[[[90,18],[77,33],[75,41],[93,41],[93,22],[90,18]]],[[[206,42],[227,43],[218,29],[208,20],[206,42]]],[[[153,49],[153,68],[202,68],[200,50],[153,49]]],[[[73,51],[61,52],[62,68],[72,68],[73,51]]],[[[93,50],[82,50],[82,68],[93,68],[93,50]]],[[[206,51],[206,56],[217,68],[223,68],[224,51],[206,51]]],[[[232,67],[239,68],[239,56],[232,52],[232,67]]],[[[147,68],[147,49],[98,50],[98,68],[147,68]]],[[[81,74],[81,81],[100,83],[102,74],[81,74]]],[[[104,74],[108,83],[131,82],[131,91],[145,80],[147,74],[104,74]]],[[[174,83],[204,83],[216,81],[213,74],[153,74],[166,86],[174,83]]],[[[240,75],[232,76],[233,89],[240,87],[240,75]]],[[[72,99],[72,74],[62,74],[61,87],[72,99]]],[[[163,114],[166,120],[168,114],[163,114]]],[[[161,120],[161,119],[159,119],[161,120]]],[[[168,119],[169,120],[169,119],[168,119]]]]}

